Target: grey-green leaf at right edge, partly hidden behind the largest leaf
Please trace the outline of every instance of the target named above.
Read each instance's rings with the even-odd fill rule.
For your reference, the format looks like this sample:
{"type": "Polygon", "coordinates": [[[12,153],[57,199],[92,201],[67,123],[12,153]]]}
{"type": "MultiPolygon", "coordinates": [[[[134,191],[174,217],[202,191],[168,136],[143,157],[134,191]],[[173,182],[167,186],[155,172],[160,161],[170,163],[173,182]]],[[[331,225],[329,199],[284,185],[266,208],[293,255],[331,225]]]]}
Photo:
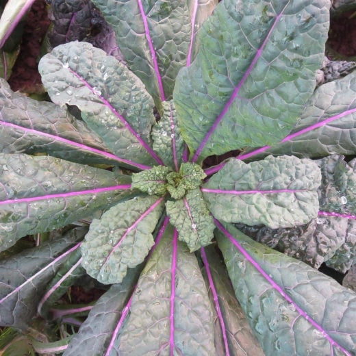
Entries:
{"type": "Polygon", "coordinates": [[[307,101],[301,120],[279,144],[246,151],[241,158],[291,154],[322,157],[338,153],[355,155],[356,72],[323,84],[307,101]]]}

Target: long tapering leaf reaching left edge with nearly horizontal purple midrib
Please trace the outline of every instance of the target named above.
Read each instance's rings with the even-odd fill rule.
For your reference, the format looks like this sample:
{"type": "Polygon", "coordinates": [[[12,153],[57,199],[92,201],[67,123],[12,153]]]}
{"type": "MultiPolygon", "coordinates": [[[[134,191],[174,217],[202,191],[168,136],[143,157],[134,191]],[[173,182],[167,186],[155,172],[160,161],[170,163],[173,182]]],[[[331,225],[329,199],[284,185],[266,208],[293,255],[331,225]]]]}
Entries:
{"type": "Polygon", "coordinates": [[[127,198],[130,181],[60,158],[0,154],[0,250],[127,198]]]}

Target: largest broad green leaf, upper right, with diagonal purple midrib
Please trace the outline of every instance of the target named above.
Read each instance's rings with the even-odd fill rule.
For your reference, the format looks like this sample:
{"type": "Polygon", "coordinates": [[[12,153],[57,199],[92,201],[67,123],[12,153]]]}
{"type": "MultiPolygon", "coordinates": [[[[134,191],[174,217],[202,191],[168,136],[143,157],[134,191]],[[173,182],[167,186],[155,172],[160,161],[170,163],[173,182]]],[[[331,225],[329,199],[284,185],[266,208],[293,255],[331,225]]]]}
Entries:
{"type": "Polygon", "coordinates": [[[193,161],[279,142],[314,91],[329,1],[222,1],[173,93],[193,161]]]}

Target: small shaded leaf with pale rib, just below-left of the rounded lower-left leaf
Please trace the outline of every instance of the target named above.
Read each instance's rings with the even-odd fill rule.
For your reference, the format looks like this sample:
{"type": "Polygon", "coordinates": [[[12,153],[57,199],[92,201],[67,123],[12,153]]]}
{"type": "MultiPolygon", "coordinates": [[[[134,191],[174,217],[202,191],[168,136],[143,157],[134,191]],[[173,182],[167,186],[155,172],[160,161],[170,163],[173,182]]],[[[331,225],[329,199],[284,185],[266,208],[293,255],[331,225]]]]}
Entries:
{"type": "Polygon", "coordinates": [[[38,303],[38,314],[46,318],[49,307],[58,301],[79,277],[84,275],[85,270],[81,266],[81,251],[77,249],[68,256],[55,277],[47,284],[46,293],[38,303]]]}

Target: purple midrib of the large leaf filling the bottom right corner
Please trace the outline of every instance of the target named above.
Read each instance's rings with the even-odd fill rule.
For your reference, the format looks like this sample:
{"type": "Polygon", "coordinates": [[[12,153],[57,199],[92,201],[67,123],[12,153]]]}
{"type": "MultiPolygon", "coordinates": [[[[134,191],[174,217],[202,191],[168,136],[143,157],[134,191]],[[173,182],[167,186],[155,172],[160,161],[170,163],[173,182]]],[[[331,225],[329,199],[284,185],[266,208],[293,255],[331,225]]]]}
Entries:
{"type": "Polygon", "coordinates": [[[283,298],[285,298],[285,300],[288,301],[288,303],[293,305],[295,307],[295,309],[298,311],[298,313],[301,316],[303,316],[303,318],[305,318],[305,320],[309,321],[310,324],[312,324],[316,329],[321,331],[322,335],[325,336],[325,338],[330,342],[331,345],[338,347],[343,353],[345,353],[345,355],[351,356],[351,353],[348,353],[348,351],[346,351],[340,344],[338,344],[338,342],[333,340],[333,338],[331,338],[331,336],[327,333],[327,331],[325,329],[323,329],[314,319],[312,319],[309,315],[307,315],[307,313],[305,313],[305,311],[301,307],[299,307],[296,303],[294,303],[292,298],[290,298],[290,296],[288,296],[288,294],[286,294],[285,291],[275,281],[273,281],[273,279],[268,275],[268,273],[266,273],[262,269],[262,267],[259,266],[259,264],[255,261],[255,259],[253,259],[253,257],[251,257],[251,255],[249,255],[249,253],[241,246],[241,244],[239,242],[237,242],[235,240],[235,238],[233,238],[231,233],[229,233],[229,231],[227,231],[227,229],[225,229],[225,227],[223,227],[223,225],[221,225],[220,222],[218,220],[216,220],[216,218],[214,218],[214,221],[215,221],[215,224],[218,227],[218,229],[220,229],[220,231],[222,231],[225,234],[225,236],[227,236],[227,238],[229,238],[229,240],[232,242],[232,244],[234,244],[238,248],[240,253],[242,253],[242,255],[244,255],[244,257],[268,281],[268,283],[270,283],[270,285],[272,285],[272,288],[277,290],[277,292],[279,292],[279,294],[281,294],[281,296],[283,298]]]}

